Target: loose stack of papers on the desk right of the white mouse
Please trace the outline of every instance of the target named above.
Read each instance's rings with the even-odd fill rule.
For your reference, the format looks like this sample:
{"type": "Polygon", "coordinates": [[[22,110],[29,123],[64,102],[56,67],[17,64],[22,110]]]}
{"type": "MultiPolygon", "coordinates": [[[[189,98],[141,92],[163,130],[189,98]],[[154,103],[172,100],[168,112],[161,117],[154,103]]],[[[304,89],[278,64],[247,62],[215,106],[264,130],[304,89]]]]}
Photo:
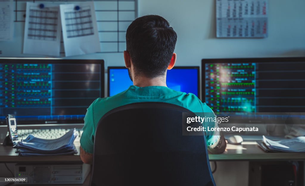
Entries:
{"type": "Polygon", "coordinates": [[[273,141],[263,136],[263,144],[266,151],[270,152],[305,152],[305,137],[296,137],[292,139],[284,139],[280,141],[273,141]]]}

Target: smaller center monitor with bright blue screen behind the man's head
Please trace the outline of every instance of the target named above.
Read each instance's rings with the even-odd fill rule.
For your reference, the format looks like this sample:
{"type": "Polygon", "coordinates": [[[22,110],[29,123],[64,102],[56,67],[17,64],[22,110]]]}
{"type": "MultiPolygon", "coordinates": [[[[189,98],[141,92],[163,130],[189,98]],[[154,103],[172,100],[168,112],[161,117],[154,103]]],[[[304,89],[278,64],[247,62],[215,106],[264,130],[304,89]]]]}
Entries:
{"type": "MultiPolygon", "coordinates": [[[[167,70],[167,87],[199,96],[199,66],[181,66],[167,70]]],[[[123,92],[133,85],[126,67],[108,67],[108,96],[123,92]]]]}

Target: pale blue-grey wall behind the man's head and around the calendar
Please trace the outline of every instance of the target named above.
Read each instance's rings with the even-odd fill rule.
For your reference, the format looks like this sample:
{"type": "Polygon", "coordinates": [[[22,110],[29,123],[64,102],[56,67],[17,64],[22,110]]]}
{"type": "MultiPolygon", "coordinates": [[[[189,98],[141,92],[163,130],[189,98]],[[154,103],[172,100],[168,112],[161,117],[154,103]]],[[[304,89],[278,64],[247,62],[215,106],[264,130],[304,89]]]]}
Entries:
{"type": "MultiPolygon", "coordinates": [[[[177,65],[200,65],[202,58],[305,56],[305,1],[269,0],[268,37],[217,39],[215,0],[138,0],[139,16],[158,14],[178,34],[177,65]]],[[[0,57],[43,57],[21,54],[23,23],[15,23],[13,41],[0,42],[0,57]]],[[[123,54],[88,54],[73,58],[105,59],[123,65],[123,54]]]]}

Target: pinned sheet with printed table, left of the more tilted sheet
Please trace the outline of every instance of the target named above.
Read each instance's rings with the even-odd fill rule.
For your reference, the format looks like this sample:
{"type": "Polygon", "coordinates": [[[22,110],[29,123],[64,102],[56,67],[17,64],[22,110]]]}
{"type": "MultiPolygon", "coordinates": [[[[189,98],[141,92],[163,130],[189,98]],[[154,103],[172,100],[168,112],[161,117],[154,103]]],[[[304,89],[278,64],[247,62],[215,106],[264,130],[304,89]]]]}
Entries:
{"type": "Polygon", "coordinates": [[[59,6],[27,2],[23,54],[59,56],[61,24],[59,6]]]}

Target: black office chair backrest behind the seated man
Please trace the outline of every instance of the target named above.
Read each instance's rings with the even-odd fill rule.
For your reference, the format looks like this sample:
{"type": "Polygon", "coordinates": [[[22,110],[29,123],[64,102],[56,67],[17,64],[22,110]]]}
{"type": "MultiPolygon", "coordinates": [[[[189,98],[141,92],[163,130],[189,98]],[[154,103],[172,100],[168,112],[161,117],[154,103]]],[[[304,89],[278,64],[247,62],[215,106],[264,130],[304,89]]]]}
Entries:
{"type": "Polygon", "coordinates": [[[95,132],[90,185],[215,185],[205,136],[182,135],[186,112],[196,116],[160,102],[128,104],[106,113],[95,132]]]}

